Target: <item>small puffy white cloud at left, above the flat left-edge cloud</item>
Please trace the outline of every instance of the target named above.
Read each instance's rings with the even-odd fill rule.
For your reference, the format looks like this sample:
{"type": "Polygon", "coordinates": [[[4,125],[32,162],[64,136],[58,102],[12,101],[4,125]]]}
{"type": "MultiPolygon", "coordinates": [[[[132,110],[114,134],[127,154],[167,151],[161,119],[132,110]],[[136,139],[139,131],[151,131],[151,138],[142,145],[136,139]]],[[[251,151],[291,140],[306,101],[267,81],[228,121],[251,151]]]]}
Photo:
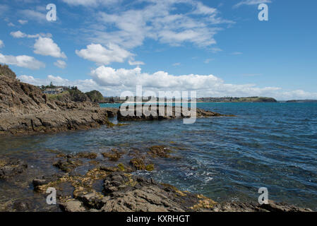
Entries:
{"type": "Polygon", "coordinates": [[[35,54],[51,56],[56,58],[66,58],[59,46],[49,37],[39,37],[34,44],[35,54]]]}

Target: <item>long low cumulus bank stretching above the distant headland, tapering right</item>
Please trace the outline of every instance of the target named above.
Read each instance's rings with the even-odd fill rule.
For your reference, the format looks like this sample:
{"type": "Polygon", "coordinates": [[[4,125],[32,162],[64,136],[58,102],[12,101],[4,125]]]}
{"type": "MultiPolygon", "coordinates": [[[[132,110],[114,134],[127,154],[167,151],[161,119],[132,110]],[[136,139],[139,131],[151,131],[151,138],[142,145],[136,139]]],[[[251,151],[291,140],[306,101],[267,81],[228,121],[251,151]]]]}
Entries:
{"type": "MultiPolygon", "coordinates": [[[[257,88],[256,85],[232,85],[213,75],[173,76],[165,71],[142,73],[141,69],[112,69],[100,66],[91,71],[93,81],[101,87],[116,90],[133,90],[136,85],[143,85],[150,90],[197,90],[199,95],[259,95],[279,88],[257,88]]],[[[119,95],[119,94],[118,94],[119,95]]]]}

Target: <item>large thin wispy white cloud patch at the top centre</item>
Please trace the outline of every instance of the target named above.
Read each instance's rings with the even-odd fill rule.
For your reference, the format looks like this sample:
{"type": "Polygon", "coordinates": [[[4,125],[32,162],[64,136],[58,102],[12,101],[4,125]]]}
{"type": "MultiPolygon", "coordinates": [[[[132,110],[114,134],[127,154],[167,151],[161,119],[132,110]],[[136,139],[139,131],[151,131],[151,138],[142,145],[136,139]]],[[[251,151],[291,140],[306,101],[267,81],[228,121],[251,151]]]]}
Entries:
{"type": "MultiPolygon", "coordinates": [[[[205,6],[193,0],[140,0],[146,4],[128,10],[114,10],[112,13],[100,12],[97,14],[100,27],[88,27],[86,39],[90,42],[118,44],[121,47],[132,49],[143,44],[146,38],[178,46],[184,42],[196,44],[198,47],[207,47],[215,44],[215,34],[222,30],[221,24],[234,23],[224,20],[215,8],[205,6]],[[175,12],[177,4],[184,5],[187,11],[175,12]],[[107,30],[107,28],[110,28],[107,30]],[[113,29],[114,28],[114,29],[113,29]]],[[[138,5],[139,6],[139,5],[138,5]]]]}

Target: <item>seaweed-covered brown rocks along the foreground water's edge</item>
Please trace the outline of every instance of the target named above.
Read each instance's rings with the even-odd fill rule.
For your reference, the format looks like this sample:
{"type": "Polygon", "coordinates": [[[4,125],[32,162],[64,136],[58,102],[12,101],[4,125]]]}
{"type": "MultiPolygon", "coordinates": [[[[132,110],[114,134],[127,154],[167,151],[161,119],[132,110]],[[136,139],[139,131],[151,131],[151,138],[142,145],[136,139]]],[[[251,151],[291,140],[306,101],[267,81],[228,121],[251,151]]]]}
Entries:
{"type": "MultiPolygon", "coordinates": [[[[217,203],[201,194],[181,191],[170,184],[137,176],[139,170],[151,171],[156,158],[173,157],[169,147],[155,145],[147,153],[139,150],[124,152],[112,149],[107,153],[77,153],[65,155],[53,152],[55,174],[37,175],[29,172],[28,164],[17,159],[1,159],[0,179],[14,182],[15,177],[28,178],[29,189],[46,204],[47,189],[56,189],[54,211],[66,212],[306,212],[286,203],[217,203]],[[121,160],[123,155],[129,159],[121,160]],[[90,166],[84,171],[80,167],[90,166]],[[30,174],[30,175],[28,175],[30,174]]],[[[0,203],[0,211],[35,211],[30,198],[0,203]]],[[[48,206],[48,205],[47,205],[48,206]]],[[[43,207],[40,209],[43,210],[43,207]]],[[[51,209],[52,210],[52,209],[51,209]]]]}

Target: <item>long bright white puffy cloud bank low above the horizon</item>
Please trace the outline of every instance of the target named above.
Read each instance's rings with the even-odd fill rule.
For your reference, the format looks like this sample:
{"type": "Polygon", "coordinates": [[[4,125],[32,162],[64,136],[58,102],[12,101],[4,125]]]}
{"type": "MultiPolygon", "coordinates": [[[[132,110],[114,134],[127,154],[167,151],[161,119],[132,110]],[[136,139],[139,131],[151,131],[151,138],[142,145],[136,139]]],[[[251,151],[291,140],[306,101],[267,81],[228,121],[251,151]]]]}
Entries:
{"type": "MultiPolygon", "coordinates": [[[[226,90],[229,87],[253,88],[254,85],[231,85],[225,84],[220,78],[213,75],[184,75],[173,76],[164,71],[157,71],[153,74],[142,73],[140,68],[136,69],[112,69],[111,67],[100,66],[91,71],[92,79],[100,86],[118,86],[135,88],[136,85],[143,85],[145,88],[169,89],[169,90],[226,90]]],[[[255,88],[254,88],[255,89],[255,88]]],[[[273,88],[275,90],[275,88],[273,88]]]]}

